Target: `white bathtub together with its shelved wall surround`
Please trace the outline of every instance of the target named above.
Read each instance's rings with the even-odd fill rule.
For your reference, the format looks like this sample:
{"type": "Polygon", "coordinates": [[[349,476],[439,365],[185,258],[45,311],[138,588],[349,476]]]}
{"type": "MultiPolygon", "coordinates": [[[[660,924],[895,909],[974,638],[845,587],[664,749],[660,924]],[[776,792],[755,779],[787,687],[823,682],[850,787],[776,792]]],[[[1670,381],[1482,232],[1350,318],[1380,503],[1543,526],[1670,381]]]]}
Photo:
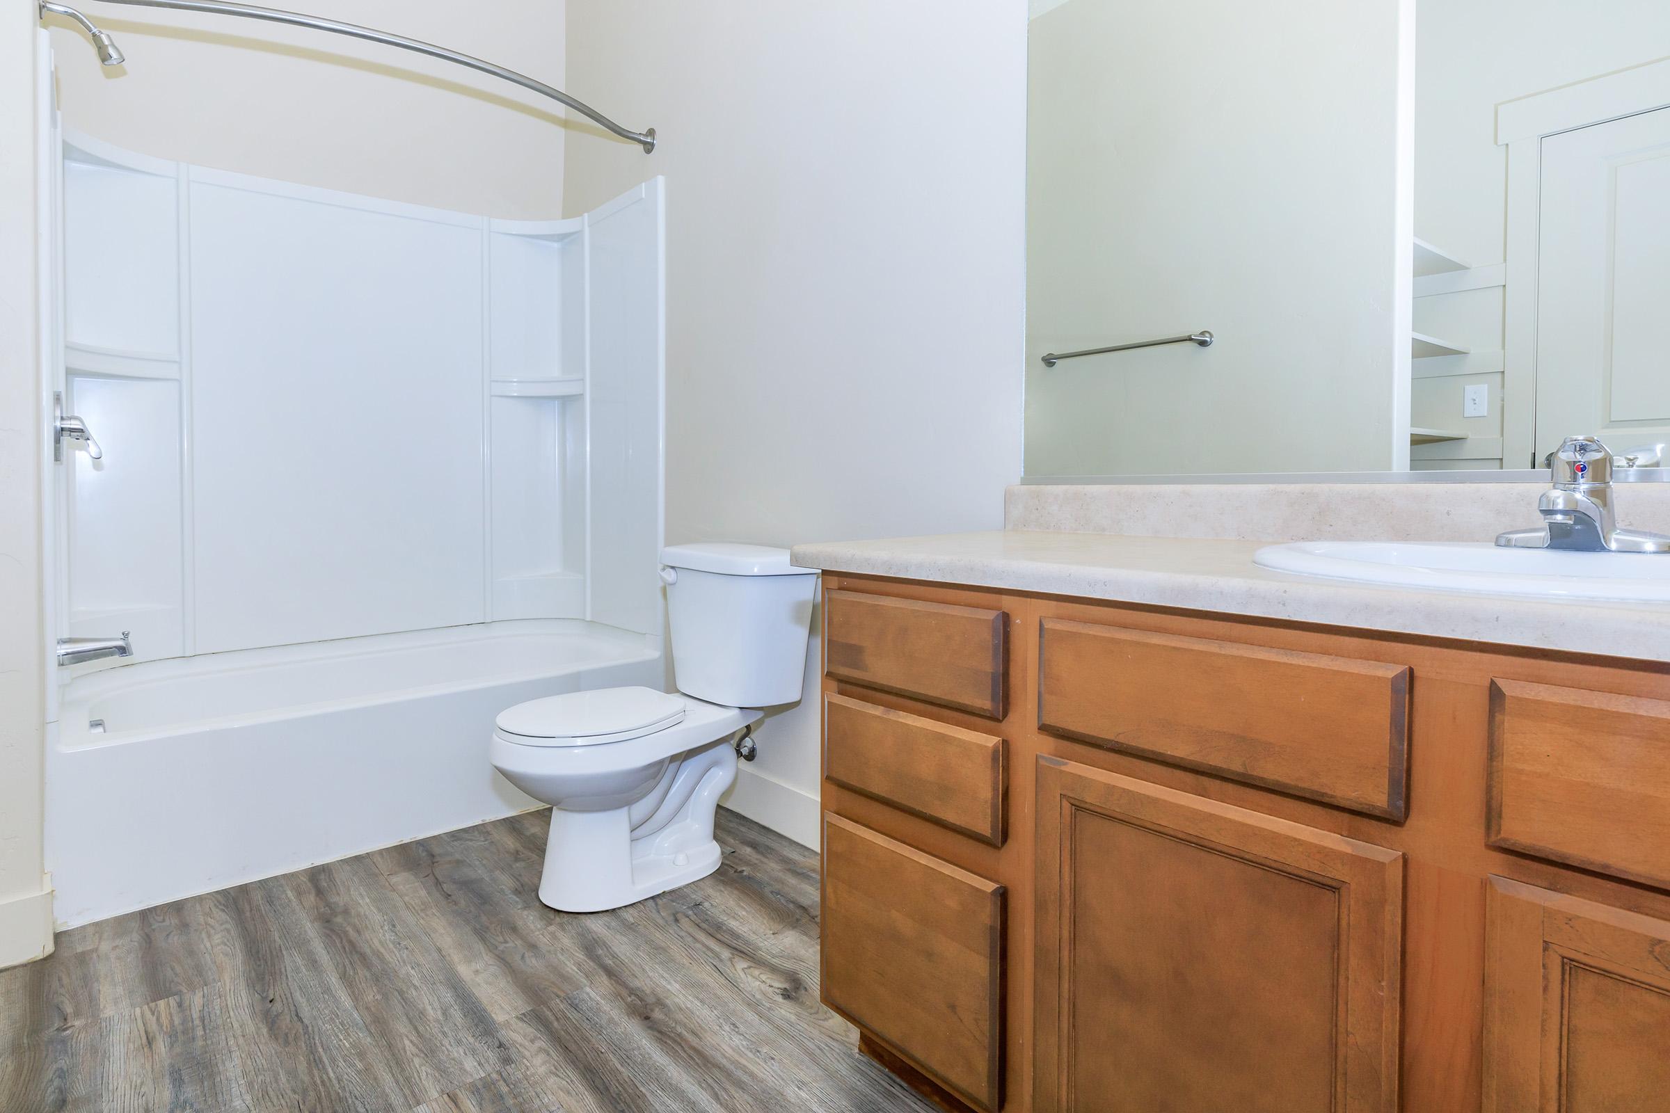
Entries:
{"type": "Polygon", "coordinates": [[[134,652],[52,677],[58,924],[533,808],[499,711],[665,682],[663,180],[501,220],[43,142],[43,397],[104,446],[48,634],[134,652]]]}

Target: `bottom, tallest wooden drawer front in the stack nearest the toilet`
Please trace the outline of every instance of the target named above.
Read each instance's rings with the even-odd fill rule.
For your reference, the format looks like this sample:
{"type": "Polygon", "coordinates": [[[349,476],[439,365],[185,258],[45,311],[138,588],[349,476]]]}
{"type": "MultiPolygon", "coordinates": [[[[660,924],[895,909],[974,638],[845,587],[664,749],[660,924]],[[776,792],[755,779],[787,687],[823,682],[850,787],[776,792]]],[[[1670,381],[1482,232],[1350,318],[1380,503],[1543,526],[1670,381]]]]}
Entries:
{"type": "Polygon", "coordinates": [[[825,813],[822,936],[825,1005],[997,1110],[1004,886],[825,813]]]}

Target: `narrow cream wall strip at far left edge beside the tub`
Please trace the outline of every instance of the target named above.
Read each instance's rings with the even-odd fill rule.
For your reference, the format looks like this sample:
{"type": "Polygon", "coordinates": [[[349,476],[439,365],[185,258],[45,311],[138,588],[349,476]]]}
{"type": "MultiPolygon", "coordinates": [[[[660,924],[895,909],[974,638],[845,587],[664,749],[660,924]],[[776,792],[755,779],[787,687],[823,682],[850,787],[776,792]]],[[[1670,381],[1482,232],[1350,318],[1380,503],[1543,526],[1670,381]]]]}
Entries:
{"type": "Polygon", "coordinates": [[[35,5],[0,8],[0,966],[52,949],[35,280],[35,5]]]}

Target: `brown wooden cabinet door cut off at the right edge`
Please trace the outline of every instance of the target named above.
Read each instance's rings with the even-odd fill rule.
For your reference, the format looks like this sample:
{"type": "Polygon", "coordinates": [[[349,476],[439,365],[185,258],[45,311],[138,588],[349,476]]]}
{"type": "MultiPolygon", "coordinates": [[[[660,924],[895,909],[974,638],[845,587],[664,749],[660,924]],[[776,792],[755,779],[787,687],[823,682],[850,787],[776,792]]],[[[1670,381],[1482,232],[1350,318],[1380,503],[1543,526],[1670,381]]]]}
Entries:
{"type": "Polygon", "coordinates": [[[1670,1110],[1670,921],[1490,879],[1486,1113],[1670,1110]]]}

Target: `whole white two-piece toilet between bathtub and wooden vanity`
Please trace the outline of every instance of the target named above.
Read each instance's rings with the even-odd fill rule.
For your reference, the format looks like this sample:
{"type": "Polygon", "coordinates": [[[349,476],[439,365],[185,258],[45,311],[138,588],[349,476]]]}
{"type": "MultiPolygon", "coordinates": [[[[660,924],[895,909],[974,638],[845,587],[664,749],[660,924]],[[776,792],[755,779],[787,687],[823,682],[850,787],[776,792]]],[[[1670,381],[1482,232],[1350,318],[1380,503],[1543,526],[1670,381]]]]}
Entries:
{"type": "Polygon", "coordinates": [[[641,901],[720,864],[713,813],[733,736],[800,699],[817,571],[787,549],[661,551],[681,694],[603,687],[499,714],[493,768],[551,804],[539,899],[569,913],[641,901]]]}

